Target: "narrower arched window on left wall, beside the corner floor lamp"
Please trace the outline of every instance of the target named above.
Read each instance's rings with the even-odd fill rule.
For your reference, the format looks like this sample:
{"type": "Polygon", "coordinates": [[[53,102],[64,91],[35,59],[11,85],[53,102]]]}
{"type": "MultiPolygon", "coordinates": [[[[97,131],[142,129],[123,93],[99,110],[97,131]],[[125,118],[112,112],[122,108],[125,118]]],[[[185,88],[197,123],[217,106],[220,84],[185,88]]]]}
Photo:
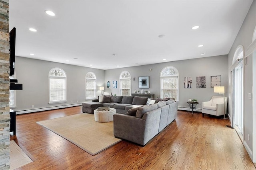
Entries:
{"type": "Polygon", "coordinates": [[[85,75],[85,99],[96,98],[96,76],[93,72],[88,72],[85,75]]]}

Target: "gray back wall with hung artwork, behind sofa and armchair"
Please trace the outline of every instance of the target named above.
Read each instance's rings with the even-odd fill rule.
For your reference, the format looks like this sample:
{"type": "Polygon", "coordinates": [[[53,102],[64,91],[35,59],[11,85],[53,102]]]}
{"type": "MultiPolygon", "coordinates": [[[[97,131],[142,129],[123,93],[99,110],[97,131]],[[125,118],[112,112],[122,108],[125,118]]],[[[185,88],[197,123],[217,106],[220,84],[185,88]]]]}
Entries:
{"type": "MultiPolygon", "coordinates": [[[[120,95],[119,90],[119,76],[122,71],[126,70],[130,72],[132,77],[132,93],[138,88],[138,77],[149,76],[150,81],[150,92],[155,94],[155,98],[160,96],[160,72],[166,66],[174,66],[179,72],[179,107],[189,107],[186,103],[188,99],[197,99],[199,104],[197,108],[202,108],[202,102],[208,101],[212,96],[218,96],[213,92],[213,88],[210,88],[210,76],[221,76],[222,86],[228,87],[228,56],[215,56],[205,57],[200,59],[190,59],[182,61],[173,61],[167,63],[150,64],[144,66],[134,66],[127,68],[118,68],[105,71],[105,91],[112,92],[112,94],[120,95]],[[149,69],[152,69],[150,71],[149,69]],[[206,88],[196,88],[196,77],[206,76],[206,88]],[[133,78],[136,78],[133,81],[133,78]],[[184,77],[192,78],[192,88],[184,88],[184,77]],[[113,89],[113,80],[118,80],[118,88],[113,89]],[[106,88],[106,82],[110,81],[110,88],[106,88]]],[[[141,89],[140,89],[141,90],[141,89]]],[[[144,89],[145,90],[145,89],[144,89]]]]}

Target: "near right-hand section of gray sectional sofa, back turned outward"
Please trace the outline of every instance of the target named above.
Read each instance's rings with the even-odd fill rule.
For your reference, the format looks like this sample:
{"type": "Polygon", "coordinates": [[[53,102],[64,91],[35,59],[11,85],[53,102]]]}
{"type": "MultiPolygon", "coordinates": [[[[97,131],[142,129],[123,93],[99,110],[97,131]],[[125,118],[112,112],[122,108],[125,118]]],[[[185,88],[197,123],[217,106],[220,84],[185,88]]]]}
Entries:
{"type": "Polygon", "coordinates": [[[170,99],[138,107],[128,115],[114,114],[114,136],[144,146],[176,119],[177,110],[178,101],[170,99]]]}

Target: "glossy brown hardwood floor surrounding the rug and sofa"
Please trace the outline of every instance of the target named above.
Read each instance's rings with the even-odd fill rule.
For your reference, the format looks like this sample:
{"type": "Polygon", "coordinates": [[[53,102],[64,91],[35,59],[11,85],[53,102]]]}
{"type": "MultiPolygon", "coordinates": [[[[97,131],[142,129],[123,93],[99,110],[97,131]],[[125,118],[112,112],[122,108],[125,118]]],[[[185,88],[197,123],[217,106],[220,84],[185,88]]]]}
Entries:
{"type": "Polygon", "coordinates": [[[230,121],[202,113],[178,111],[145,147],[121,141],[95,156],[36,123],[78,113],[81,106],[17,115],[11,139],[34,161],[19,169],[255,170],[230,121]]]}

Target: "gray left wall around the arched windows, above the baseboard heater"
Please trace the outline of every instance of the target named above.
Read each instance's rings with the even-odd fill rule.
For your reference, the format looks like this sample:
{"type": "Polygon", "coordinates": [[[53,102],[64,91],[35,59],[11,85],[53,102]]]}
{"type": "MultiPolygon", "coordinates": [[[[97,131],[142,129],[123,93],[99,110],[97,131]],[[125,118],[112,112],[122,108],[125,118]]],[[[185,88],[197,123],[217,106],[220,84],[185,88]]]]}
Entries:
{"type": "MultiPolygon", "coordinates": [[[[97,86],[103,86],[104,70],[16,56],[16,79],[18,83],[23,84],[23,90],[16,90],[16,108],[13,110],[22,111],[85,102],[85,75],[89,71],[96,74],[97,86]],[[48,104],[48,74],[54,67],[62,68],[67,74],[66,103],[48,104]]],[[[100,95],[99,89],[97,89],[98,95],[100,95]]]]}

